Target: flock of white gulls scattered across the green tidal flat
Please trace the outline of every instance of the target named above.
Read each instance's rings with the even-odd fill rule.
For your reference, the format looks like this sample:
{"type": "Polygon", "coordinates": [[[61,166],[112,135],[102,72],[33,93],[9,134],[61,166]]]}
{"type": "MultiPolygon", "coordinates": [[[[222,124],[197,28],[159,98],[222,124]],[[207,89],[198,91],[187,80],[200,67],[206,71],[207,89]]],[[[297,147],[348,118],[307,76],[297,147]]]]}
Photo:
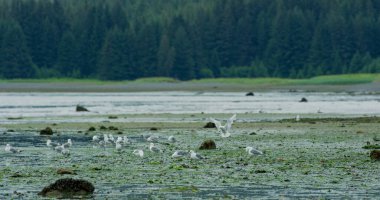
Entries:
{"type": "MultiPolygon", "coordinates": [[[[231,118],[227,120],[227,122],[222,125],[222,123],[214,118],[210,118],[210,121],[215,124],[215,127],[219,133],[219,135],[222,138],[227,138],[231,136],[230,130],[232,127],[233,122],[236,120],[236,114],[234,114],[231,118]]],[[[299,120],[299,116],[297,116],[297,121],[299,120]]],[[[152,153],[163,153],[162,149],[157,147],[155,143],[158,142],[159,137],[152,135],[147,138],[145,138],[147,142],[149,142],[149,151],[152,153]]],[[[177,139],[174,136],[169,136],[167,138],[167,141],[170,143],[175,143],[177,142],[177,139]]],[[[103,136],[99,135],[94,135],[92,137],[92,143],[93,143],[93,148],[103,148],[104,150],[107,147],[112,147],[115,148],[117,152],[121,152],[123,150],[124,146],[128,146],[131,144],[130,139],[127,136],[120,137],[118,136],[115,138],[112,134],[103,134],[103,136]]],[[[46,141],[46,146],[51,148],[52,150],[64,155],[64,156],[69,156],[70,155],[70,147],[73,145],[72,140],[68,139],[66,143],[60,144],[51,141],[48,139],[46,141]]],[[[6,152],[10,153],[20,153],[21,150],[17,149],[15,147],[12,147],[10,144],[7,144],[5,147],[6,152]]],[[[253,148],[253,147],[246,147],[245,151],[248,153],[248,155],[262,155],[263,152],[253,148]]],[[[144,157],[144,150],[143,149],[135,149],[132,152],[134,155],[139,156],[139,157],[144,157]]],[[[190,156],[191,159],[204,159],[204,157],[198,153],[196,153],[193,150],[190,151],[185,151],[185,150],[176,150],[171,157],[172,158],[181,158],[181,157],[186,157],[190,156]]]]}

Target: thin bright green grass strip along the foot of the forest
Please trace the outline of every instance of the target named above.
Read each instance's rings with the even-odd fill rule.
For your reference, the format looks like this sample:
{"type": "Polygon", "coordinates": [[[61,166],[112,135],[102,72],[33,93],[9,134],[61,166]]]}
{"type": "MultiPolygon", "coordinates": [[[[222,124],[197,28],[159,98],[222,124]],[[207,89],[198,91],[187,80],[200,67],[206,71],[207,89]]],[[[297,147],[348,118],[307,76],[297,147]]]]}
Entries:
{"type": "MultiPolygon", "coordinates": [[[[126,84],[126,83],[177,83],[169,77],[140,78],[134,81],[103,81],[98,79],[49,78],[49,79],[1,79],[0,83],[85,83],[85,84],[126,84]]],[[[309,79],[289,78],[207,78],[187,81],[190,83],[223,83],[244,85],[348,85],[380,82],[380,74],[324,75],[309,79]]]]}

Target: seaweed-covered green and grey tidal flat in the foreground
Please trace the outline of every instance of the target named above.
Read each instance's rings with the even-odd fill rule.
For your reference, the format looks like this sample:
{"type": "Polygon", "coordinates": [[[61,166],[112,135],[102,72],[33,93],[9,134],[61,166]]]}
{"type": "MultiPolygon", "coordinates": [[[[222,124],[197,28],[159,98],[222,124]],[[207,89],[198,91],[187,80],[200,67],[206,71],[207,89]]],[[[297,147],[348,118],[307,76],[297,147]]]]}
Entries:
{"type": "MultiPolygon", "coordinates": [[[[107,116],[101,122],[11,123],[0,131],[0,196],[35,199],[37,193],[64,178],[94,184],[90,198],[215,198],[215,199],[365,199],[380,196],[380,162],[370,159],[363,147],[378,144],[379,118],[313,114],[281,120],[284,114],[238,114],[232,135],[221,138],[216,129],[203,128],[209,116],[226,119],[230,114],[152,114],[107,116]],[[120,118],[149,118],[118,122],[120,118]],[[191,120],[189,120],[191,119],[191,120]],[[41,136],[51,127],[54,134],[41,136]],[[100,130],[104,126],[106,129],[100,130]],[[109,127],[118,130],[109,130],[109,127]],[[89,131],[94,127],[95,131],[89,131]],[[151,128],[157,130],[151,130],[151,128]],[[131,143],[117,152],[114,146],[93,148],[92,136],[128,136],[131,143]],[[148,135],[158,136],[163,153],[149,152],[148,135]],[[173,135],[176,143],[169,143],[173,135]],[[71,155],[63,156],[46,146],[46,140],[73,140],[71,155]],[[206,140],[215,150],[199,150],[206,140]],[[10,143],[22,150],[4,151],[10,143]],[[245,147],[264,152],[249,156],[245,147]],[[143,158],[132,154],[143,149],[143,158]],[[204,160],[189,156],[171,158],[175,150],[195,150],[204,160]],[[73,174],[57,174],[58,169],[73,174]]],[[[63,117],[61,117],[63,118],[63,117]]],[[[33,121],[33,120],[32,120],[33,121]]],[[[64,121],[64,120],[63,120],[64,121]]]]}

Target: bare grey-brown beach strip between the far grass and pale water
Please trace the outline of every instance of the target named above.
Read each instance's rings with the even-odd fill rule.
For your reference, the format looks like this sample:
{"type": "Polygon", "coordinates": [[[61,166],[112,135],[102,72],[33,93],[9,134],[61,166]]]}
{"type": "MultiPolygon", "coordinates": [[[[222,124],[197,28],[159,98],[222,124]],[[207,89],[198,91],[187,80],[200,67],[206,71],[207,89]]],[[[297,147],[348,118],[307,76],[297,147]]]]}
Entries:
{"type": "Polygon", "coordinates": [[[192,92],[380,92],[380,83],[344,85],[270,85],[236,83],[31,83],[0,82],[0,92],[154,92],[154,91],[192,91],[192,92]]]}

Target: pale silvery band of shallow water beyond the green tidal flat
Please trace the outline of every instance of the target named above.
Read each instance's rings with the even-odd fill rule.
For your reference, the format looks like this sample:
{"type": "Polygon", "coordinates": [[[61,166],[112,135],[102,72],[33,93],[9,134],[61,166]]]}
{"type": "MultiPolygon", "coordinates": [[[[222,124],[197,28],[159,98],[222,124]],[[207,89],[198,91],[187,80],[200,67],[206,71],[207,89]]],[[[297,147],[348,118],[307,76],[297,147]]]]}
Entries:
{"type": "MultiPolygon", "coordinates": [[[[380,95],[349,93],[0,93],[0,123],[16,123],[22,118],[77,116],[77,122],[99,122],[96,115],[146,113],[297,113],[380,114],[380,95]],[[299,100],[306,97],[308,103],[299,100]],[[83,105],[91,112],[75,112],[83,105]]],[[[31,121],[28,119],[29,122],[31,121]]],[[[128,119],[118,119],[127,121],[128,119]]],[[[60,120],[62,121],[62,120],[60,120]]],[[[66,121],[70,121],[66,118],[66,121]]]]}

